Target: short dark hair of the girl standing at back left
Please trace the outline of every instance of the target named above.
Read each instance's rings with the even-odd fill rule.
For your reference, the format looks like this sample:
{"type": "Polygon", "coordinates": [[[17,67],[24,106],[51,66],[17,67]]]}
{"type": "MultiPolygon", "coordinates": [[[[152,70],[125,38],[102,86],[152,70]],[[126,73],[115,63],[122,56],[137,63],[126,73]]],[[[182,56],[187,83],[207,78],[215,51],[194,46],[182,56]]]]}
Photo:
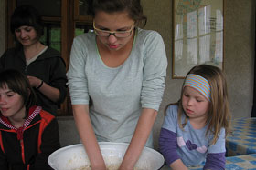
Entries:
{"type": "Polygon", "coordinates": [[[23,25],[34,27],[38,39],[44,35],[44,26],[41,16],[37,12],[37,9],[31,5],[20,5],[16,7],[16,10],[11,16],[10,26],[13,35],[15,35],[15,30],[23,25]]]}

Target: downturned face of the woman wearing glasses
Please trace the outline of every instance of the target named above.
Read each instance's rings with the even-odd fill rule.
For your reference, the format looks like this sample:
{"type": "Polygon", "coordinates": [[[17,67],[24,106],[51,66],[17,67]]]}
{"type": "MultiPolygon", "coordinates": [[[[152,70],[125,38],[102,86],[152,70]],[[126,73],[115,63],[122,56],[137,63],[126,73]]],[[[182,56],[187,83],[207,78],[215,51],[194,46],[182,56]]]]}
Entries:
{"type": "Polygon", "coordinates": [[[111,51],[118,51],[126,45],[133,45],[134,21],[127,12],[105,13],[97,11],[94,17],[95,28],[104,31],[123,32],[131,30],[131,35],[127,37],[116,37],[115,35],[100,36],[97,35],[97,40],[100,46],[111,51]]]}

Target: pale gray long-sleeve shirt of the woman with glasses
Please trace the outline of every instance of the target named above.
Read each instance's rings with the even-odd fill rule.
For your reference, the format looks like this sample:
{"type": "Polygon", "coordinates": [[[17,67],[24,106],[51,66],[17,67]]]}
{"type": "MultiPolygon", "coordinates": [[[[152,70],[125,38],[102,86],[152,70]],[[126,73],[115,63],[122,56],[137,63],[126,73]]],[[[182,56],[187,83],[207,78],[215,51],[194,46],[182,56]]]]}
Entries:
{"type": "MultiPolygon", "coordinates": [[[[133,49],[118,67],[104,65],[94,33],[74,39],[68,71],[72,105],[88,105],[99,141],[130,142],[142,108],[159,109],[165,89],[165,45],[155,31],[136,29],[133,49]]],[[[146,145],[152,146],[153,139],[146,145]]]]}

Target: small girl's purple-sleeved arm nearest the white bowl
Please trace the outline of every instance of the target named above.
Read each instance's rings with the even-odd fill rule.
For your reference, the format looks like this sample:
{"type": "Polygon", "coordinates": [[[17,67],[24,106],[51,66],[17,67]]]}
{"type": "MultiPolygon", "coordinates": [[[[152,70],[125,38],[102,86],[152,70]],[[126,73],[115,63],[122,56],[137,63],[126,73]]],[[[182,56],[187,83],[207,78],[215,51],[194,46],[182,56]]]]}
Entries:
{"type": "Polygon", "coordinates": [[[186,165],[180,159],[180,156],[176,152],[176,133],[169,131],[165,128],[161,128],[159,137],[159,149],[162,155],[165,157],[165,162],[173,170],[186,170],[186,165]]]}

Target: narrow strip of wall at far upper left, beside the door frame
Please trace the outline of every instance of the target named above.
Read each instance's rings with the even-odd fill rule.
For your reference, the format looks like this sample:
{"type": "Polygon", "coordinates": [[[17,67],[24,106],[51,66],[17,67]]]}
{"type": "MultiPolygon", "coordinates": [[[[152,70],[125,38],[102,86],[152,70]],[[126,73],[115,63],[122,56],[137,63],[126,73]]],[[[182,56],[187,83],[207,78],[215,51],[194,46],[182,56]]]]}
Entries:
{"type": "Polygon", "coordinates": [[[5,0],[0,0],[0,56],[5,51],[5,0]]]}

